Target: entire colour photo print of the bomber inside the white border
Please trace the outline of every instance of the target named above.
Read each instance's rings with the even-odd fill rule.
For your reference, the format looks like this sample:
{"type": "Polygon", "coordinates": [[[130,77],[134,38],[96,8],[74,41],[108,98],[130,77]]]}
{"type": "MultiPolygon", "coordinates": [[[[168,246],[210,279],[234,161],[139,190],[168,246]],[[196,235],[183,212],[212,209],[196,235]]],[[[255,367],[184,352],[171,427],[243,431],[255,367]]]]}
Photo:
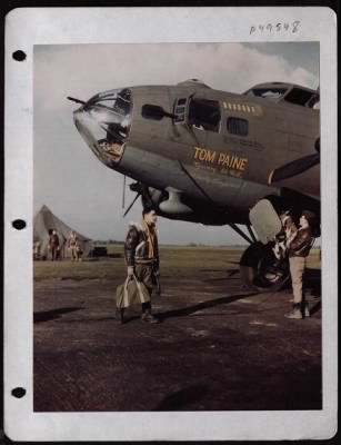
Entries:
{"type": "Polygon", "coordinates": [[[34,46],[34,413],[322,409],[319,61],[34,46]]]}

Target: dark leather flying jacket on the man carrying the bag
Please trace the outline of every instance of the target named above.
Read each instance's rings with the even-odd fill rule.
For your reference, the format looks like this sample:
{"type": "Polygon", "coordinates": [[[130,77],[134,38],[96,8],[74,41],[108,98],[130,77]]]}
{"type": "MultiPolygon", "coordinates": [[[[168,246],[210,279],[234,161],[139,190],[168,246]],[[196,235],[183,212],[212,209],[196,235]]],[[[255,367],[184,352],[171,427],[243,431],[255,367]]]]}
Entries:
{"type": "Polygon", "coordinates": [[[148,235],[140,224],[132,222],[129,226],[126,243],[124,257],[127,266],[133,266],[136,263],[152,263],[156,268],[159,267],[158,239],[154,241],[154,256],[149,251],[148,235]]]}

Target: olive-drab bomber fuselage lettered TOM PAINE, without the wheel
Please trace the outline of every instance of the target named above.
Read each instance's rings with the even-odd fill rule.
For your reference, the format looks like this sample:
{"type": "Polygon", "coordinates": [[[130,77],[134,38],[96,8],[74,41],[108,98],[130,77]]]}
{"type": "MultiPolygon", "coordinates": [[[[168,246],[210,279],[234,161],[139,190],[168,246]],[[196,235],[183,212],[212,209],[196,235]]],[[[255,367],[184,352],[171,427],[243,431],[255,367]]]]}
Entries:
{"type": "MultiPolygon", "coordinates": [[[[101,95],[102,101],[97,96],[74,112],[76,125],[96,156],[152,189],[179,190],[193,209],[217,206],[229,215],[225,220],[220,215],[220,224],[242,222],[255,201],[281,195],[282,185],[269,185],[269,174],[315,150],[320,113],[312,108],[195,82],[114,92],[114,113],[106,109],[110,91],[101,95]],[[146,106],[172,117],[144,112],[146,106]],[[102,128],[101,139],[91,126],[102,128]]],[[[287,179],[283,187],[318,199],[319,166],[287,179]]],[[[169,217],[197,219],[190,214],[169,217]]]]}

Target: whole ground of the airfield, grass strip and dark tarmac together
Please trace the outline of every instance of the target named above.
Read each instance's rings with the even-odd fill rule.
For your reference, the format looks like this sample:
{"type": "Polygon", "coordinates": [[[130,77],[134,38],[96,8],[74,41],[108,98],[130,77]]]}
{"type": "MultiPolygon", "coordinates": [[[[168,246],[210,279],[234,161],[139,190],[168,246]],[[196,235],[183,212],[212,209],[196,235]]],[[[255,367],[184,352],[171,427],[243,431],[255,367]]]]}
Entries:
{"type": "Polygon", "coordinates": [[[319,250],[308,258],[311,317],[284,317],[290,285],[257,294],[242,248],[161,246],[161,290],[114,323],[122,246],[98,261],[34,261],[36,412],[322,408],[319,250]]]}

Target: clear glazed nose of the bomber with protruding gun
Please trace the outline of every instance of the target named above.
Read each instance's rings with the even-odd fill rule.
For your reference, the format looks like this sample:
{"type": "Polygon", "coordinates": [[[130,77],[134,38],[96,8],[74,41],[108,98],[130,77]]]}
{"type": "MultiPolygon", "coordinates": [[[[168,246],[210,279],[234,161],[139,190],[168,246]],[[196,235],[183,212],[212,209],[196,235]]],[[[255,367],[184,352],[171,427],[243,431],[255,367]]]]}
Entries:
{"type": "Polygon", "coordinates": [[[96,95],[73,112],[74,125],[94,155],[108,167],[120,161],[131,125],[132,97],[128,88],[96,95]]]}

